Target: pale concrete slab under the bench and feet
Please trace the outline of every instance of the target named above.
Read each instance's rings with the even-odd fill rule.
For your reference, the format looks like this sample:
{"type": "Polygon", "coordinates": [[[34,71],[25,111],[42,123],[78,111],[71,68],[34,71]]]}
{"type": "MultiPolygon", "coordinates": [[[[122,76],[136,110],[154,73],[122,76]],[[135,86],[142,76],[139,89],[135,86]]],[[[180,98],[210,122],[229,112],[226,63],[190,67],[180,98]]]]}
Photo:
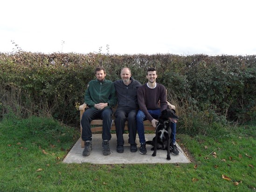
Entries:
{"type": "MultiPolygon", "coordinates": [[[[145,134],[146,141],[152,140],[154,134],[145,134]]],[[[152,145],[147,144],[147,154],[142,155],[138,151],[132,153],[130,151],[130,144],[128,144],[128,134],[124,134],[125,144],[124,153],[118,153],[116,151],[117,139],[116,135],[112,134],[110,140],[111,154],[104,156],[102,153],[102,138],[101,134],[92,135],[92,151],[90,156],[84,157],[82,155],[83,149],[81,148],[81,138],[78,139],[73,148],[69,151],[68,155],[64,158],[63,163],[91,163],[91,164],[174,164],[174,163],[191,163],[186,154],[182,151],[180,146],[176,143],[180,149],[179,155],[171,154],[171,160],[166,159],[167,151],[158,150],[156,157],[152,157],[153,151],[151,151],[152,145]]],[[[136,143],[139,146],[138,135],[136,143]]]]}

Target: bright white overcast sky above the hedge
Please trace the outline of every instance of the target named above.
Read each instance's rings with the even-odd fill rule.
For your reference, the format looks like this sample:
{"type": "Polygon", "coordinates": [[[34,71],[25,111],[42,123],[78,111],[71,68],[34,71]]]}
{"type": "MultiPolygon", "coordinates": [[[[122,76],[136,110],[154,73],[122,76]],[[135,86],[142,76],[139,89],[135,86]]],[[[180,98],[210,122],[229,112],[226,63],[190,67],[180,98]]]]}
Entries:
{"type": "Polygon", "coordinates": [[[256,55],[256,0],[3,0],[0,5],[3,53],[12,52],[15,42],[41,53],[256,55]]]}

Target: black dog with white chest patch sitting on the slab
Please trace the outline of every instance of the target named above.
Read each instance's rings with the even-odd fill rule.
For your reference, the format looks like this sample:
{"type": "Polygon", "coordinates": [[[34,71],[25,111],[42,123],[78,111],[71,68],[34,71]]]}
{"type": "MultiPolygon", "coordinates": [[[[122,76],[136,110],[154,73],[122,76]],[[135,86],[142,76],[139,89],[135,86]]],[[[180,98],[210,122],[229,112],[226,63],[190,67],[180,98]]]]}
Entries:
{"type": "Polygon", "coordinates": [[[157,149],[166,150],[167,149],[167,160],[170,160],[170,143],[171,143],[171,128],[170,123],[176,123],[179,119],[176,116],[174,110],[166,109],[163,110],[161,116],[158,119],[156,126],[156,136],[152,141],[146,141],[146,144],[152,144],[154,147],[151,150],[154,150],[152,156],[156,156],[157,149]]]}

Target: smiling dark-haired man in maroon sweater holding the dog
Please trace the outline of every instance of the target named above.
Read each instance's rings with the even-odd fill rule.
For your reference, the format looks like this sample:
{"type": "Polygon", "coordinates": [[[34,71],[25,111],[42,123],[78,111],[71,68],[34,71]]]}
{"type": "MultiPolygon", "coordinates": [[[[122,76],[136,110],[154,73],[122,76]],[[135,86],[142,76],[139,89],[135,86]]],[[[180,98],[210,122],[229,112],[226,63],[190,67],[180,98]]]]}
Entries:
{"type": "MultiPolygon", "coordinates": [[[[168,108],[166,88],[156,82],[156,69],[153,67],[148,68],[146,78],[148,82],[140,86],[137,93],[139,110],[136,116],[136,123],[140,142],[139,153],[141,154],[147,153],[143,121],[149,120],[153,127],[156,127],[157,119],[161,112],[168,108]]],[[[180,152],[175,145],[176,123],[171,123],[171,130],[171,151],[174,155],[178,155],[180,152]]]]}

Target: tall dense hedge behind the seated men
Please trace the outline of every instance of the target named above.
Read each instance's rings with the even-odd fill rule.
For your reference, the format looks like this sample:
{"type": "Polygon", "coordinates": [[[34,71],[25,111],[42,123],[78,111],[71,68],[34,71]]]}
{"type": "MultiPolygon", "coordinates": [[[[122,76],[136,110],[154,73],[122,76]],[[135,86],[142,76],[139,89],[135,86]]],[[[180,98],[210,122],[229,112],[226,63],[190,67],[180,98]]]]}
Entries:
{"type": "Polygon", "coordinates": [[[0,118],[12,111],[21,117],[43,115],[63,123],[79,122],[93,70],[104,66],[115,81],[130,67],[146,82],[145,71],[156,67],[157,82],[166,86],[184,126],[189,118],[245,122],[256,117],[256,56],[232,55],[103,55],[0,53],[0,118]],[[187,121],[187,120],[186,120],[187,121]]]}

